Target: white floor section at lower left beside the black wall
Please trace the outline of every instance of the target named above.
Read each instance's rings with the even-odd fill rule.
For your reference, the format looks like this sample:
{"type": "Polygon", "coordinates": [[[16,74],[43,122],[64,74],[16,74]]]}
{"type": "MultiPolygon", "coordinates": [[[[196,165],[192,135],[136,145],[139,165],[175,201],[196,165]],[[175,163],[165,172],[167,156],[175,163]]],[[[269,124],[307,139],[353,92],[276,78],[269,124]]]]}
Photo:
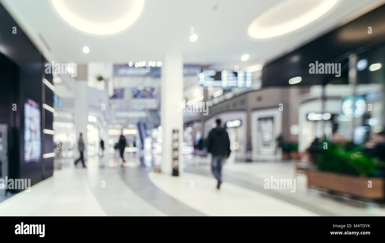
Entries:
{"type": "MultiPolygon", "coordinates": [[[[56,173],[57,172],[57,173],[56,173]]],[[[87,170],[55,175],[0,203],[1,216],[106,216],[87,183],[87,170]]]]}

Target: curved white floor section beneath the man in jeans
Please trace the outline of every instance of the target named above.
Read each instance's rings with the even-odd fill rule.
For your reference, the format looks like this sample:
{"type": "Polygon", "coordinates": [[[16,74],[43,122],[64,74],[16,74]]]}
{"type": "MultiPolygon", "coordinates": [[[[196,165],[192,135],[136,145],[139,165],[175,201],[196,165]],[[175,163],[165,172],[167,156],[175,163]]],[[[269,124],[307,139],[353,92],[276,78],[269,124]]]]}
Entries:
{"type": "Polygon", "coordinates": [[[207,176],[182,173],[172,177],[149,173],[150,180],[162,191],[209,216],[317,216],[285,201],[232,183],[215,188],[216,180],[207,176]]]}

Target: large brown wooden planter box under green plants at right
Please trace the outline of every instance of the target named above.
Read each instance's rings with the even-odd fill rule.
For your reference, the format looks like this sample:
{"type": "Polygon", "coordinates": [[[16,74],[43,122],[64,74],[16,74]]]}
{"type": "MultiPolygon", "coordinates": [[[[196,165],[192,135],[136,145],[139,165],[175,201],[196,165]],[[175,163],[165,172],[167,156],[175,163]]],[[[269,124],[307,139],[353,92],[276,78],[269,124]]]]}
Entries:
{"type": "Polygon", "coordinates": [[[350,176],[326,171],[309,171],[307,176],[308,187],[317,186],[360,198],[385,198],[385,182],[381,177],[350,176]],[[372,181],[372,188],[368,188],[368,181],[372,181]]]}

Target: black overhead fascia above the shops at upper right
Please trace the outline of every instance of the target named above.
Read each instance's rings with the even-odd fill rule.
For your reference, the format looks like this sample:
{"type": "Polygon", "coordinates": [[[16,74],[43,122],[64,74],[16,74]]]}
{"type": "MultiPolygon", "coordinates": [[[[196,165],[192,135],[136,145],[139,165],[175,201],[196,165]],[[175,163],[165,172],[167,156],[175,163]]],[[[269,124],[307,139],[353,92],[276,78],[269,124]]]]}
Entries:
{"type": "Polygon", "coordinates": [[[385,23],[385,5],[268,63],[262,70],[262,87],[290,85],[290,78],[298,76],[302,77],[302,81],[297,85],[348,83],[349,54],[369,53],[368,63],[371,63],[370,52],[376,55],[377,52],[373,50],[383,47],[385,42],[383,23],[385,23]],[[372,34],[368,33],[368,27],[372,27],[372,34]],[[341,77],[335,77],[334,74],[310,74],[309,65],[316,61],[341,63],[341,77]]]}

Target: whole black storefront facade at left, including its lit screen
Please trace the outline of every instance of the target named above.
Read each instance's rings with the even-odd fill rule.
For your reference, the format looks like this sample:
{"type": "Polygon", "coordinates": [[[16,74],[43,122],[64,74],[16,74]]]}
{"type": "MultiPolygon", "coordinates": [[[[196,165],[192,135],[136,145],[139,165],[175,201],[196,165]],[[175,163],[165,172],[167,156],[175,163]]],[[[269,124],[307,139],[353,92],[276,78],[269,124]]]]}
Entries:
{"type": "Polygon", "coordinates": [[[43,108],[53,107],[54,92],[43,83],[52,83],[52,74],[45,74],[47,61],[2,5],[0,21],[0,124],[7,128],[0,139],[0,178],[34,185],[53,175],[53,158],[43,158],[54,148],[53,135],[43,133],[53,130],[53,113],[43,108]]]}

